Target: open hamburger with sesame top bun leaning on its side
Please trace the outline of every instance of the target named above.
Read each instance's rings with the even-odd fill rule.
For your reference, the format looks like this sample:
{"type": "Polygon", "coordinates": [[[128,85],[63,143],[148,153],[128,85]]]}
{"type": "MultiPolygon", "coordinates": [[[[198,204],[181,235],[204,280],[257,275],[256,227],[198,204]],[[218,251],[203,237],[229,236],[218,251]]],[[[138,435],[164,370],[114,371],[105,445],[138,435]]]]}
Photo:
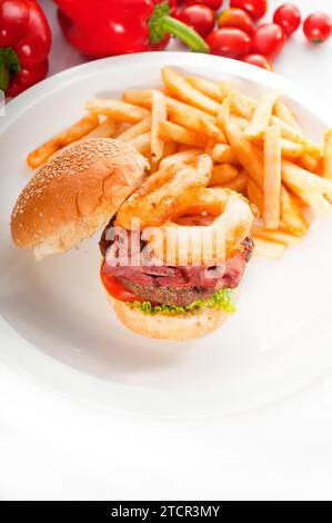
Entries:
{"type": "MultiPolygon", "coordinates": [[[[212,257],[203,265],[183,265],[177,256],[172,263],[155,258],[158,246],[147,236],[150,225],[163,229],[169,224],[177,235],[215,221],[200,203],[202,194],[208,199],[212,196],[208,193],[213,189],[205,189],[211,160],[201,158],[195,166],[181,165],[149,177],[148,171],[148,160],[125,142],[79,141],[41,167],[23,188],[11,216],[12,239],[20,248],[32,248],[40,260],[64,253],[103,228],[101,283],[119,319],[149,337],[194,338],[215,329],[234,310],[237,289],[253,249],[253,215],[242,201],[247,221],[241,228],[240,217],[238,223],[233,216],[237,241],[220,265],[212,257]],[[181,190],[174,191],[178,186],[181,190]],[[161,194],[167,189],[170,193],[161,194]],[[134,217],[143,220],[138,228],[127,223],[128,210],[133,209],[141,215],[134,217]],[[152,256],[150,249],[148,258],[141,257],[151,245],[155,247],[152,256]],[[140,260],[133,263],[137,254],[140,260]]],[[[218,200],[217,193],[213,197],[218,200]]],[[[228,197],[235,203],[239,195],[228,197]]]]}

